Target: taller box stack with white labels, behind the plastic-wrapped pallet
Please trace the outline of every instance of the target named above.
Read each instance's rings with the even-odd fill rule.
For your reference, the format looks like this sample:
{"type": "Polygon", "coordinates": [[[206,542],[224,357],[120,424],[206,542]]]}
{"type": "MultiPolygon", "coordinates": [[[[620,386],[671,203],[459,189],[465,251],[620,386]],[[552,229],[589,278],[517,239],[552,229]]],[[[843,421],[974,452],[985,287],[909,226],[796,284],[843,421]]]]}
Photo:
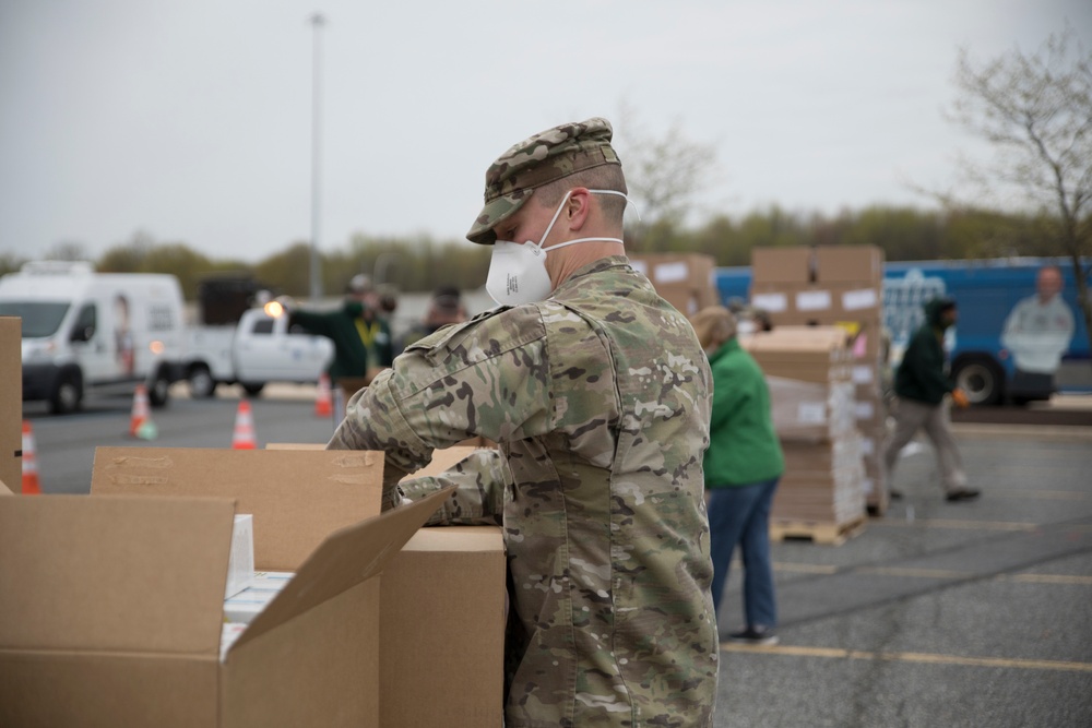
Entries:
{"type": "Polygon", "coordinates": [[[868,510],[888,496],[880,464],[887,411],[881,396],[883,251],[876,246],[756,248],[750,302],[776,327],[834,326],[850,336],[848,377],[860,432],[868,510]]]}

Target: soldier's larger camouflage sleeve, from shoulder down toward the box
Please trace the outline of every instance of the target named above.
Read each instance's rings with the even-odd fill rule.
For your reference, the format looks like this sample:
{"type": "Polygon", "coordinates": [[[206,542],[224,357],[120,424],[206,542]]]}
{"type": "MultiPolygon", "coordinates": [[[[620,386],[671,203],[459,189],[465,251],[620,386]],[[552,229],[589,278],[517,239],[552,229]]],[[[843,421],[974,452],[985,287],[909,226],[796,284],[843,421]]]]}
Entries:
{"type": "Polygon", "coordinates": [[[505,442],[548,431],[545,335],[538,309],[524,306],[426,336],[349,399],[327,447],[383,451],[389,508],[399,480],[426,465],[434,449],[475,435],[505,442]]]}

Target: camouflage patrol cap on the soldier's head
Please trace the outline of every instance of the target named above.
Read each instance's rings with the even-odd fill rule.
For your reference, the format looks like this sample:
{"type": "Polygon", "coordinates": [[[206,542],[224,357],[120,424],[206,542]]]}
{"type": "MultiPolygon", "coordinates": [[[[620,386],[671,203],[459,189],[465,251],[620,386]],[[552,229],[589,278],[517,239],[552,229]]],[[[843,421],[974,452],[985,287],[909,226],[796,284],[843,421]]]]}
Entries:
{"type": "Polygon", "coordinates": [[[523,206],[536,188],[601,165],[620,165],[610,122],[600,117],[563,123],[515,144],[485,172],[485,206],[466,234],[491,246],[492,228],[523,206]]]}

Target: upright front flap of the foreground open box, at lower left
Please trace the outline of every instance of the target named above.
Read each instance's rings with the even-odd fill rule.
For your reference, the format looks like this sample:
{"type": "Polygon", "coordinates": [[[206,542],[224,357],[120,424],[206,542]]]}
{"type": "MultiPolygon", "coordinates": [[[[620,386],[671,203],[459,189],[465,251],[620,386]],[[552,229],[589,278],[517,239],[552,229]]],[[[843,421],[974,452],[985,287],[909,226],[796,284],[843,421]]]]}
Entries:
{"type": "Polygon", "coordinates": [[[227,499],[0,498],[0,648],[209,653],[227,499]]]}

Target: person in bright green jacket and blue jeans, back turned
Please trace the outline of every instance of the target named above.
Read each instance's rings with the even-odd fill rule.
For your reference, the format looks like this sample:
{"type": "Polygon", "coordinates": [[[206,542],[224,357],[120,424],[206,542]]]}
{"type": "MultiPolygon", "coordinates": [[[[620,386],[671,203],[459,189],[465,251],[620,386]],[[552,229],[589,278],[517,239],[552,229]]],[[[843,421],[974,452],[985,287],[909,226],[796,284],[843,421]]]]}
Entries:
{"type": "Polygon", "coordinates": [[[775,644],[778,605],[770,564],[770,510],[785,470],[773,429],[770,390],[758,362],[736,338],[728,309],[713,306],[690,320],[713,372],[713,414],[705,451],[713,605],[721,606],[732,552],[744,564],[744,630],[733,642],[775,644]]]}

